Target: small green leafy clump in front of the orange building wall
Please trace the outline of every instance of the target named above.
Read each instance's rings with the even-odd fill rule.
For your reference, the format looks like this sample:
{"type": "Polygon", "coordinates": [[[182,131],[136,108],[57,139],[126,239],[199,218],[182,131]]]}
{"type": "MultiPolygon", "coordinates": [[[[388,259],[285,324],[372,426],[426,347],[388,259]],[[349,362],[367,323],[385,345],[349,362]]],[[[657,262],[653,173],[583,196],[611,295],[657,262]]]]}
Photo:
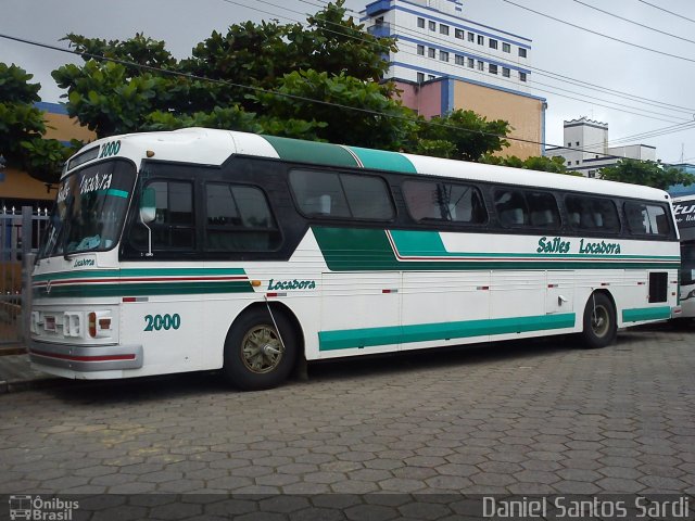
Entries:
{"type": "Polygon", "coordinates": [[[508,147],[509,142],[504,139],[508,132],[509,124],[505,120],[488,122],[472,111],[456,110],[443,117],[421,120],[410,150],[453,160],[479,161],[484,154],[508,147]],[[422,140],[425,143],[420,144],[422,140]],[[432,147],[432,142],[437,144],[432,147]]]}

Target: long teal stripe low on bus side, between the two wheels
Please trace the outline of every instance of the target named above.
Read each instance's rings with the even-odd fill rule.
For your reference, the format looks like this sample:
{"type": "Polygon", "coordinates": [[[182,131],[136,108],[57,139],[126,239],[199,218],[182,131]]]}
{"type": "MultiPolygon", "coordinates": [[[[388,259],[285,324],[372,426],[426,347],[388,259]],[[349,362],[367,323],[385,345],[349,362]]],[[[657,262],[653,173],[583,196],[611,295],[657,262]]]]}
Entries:
{"type": "Polygon", "coordinates": [[[319,351],[352,350],[388,344],[567,329],[574,327],[576,319],[573,313],[565,313],[533,317],[320,331],[318,333],[318,348],[319,351]]]}

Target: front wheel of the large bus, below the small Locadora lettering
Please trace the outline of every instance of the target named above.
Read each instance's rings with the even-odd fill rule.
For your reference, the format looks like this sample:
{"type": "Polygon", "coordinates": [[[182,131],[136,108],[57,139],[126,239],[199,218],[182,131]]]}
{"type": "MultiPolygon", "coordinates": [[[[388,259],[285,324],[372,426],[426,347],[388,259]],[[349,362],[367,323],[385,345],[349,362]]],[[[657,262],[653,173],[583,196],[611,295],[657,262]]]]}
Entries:
{"type": "Polygon", "coordinates": [[[295,358],[296,334],[286,316],[275,312],[271,317],[267,308],[251,309],[227,333],[223,371],[236,387],[260,391],[285,382],[295,358]]]}

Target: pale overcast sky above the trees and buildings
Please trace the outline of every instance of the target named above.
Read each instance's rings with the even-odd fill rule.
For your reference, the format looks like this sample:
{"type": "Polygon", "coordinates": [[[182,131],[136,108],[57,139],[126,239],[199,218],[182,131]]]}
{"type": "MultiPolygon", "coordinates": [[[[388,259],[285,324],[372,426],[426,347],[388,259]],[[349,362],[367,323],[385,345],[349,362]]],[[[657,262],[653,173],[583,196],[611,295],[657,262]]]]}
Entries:
{"type": "MultiPolygon", "coordinates": [[[[140,31],[165,40],[167,49],[180,59],[190,55],[191,48],[214,29],[225,31],[230,24],[247,20],[304,21],[305,13],[316,12],[321,3],[321,0],[0,0],[0,33],[66,47],[59,39],[67,33],[127,39],[140,31]]],[[[351,10],[349,14],[358,17],[366,3],[366,0],[346,0],[345,7],[351,10]]],[[[548,145],[561,145],[563,120],[581,116],[608,123],[611,142],[694,122],[694,0],[648,2],[682,17],[641,0],[514,0],[514,3],[599,35],[682,56],[671,58],[590,34],[504,0],[464,0],[465,17],[533,40],[533,73],[529,85],[531,92],[547,99],[548,145]],[[585,4],[675,37],[621,21],[585,4]],[[549,73],[563,78],[549,77],[549,73]],[[577,85],[577,80],[593,86],[577,85]],[[599,87],[643,99],[610,94],[599,87]]],[[[34,74],[34,80],[42,86],[43,101],[50,102],[61,101],[62,93],[50,72],[67,62],[79,63],[78,59],[62,52],[5,39],[0,39],[0,61],[15,63],[34,74]]],[[[681,157],[695,163],[695,128],[670,130],[660,137],[634,137],[627,143],[657,147],[657,157],[668,163],[678,163],[681,157]]]]}

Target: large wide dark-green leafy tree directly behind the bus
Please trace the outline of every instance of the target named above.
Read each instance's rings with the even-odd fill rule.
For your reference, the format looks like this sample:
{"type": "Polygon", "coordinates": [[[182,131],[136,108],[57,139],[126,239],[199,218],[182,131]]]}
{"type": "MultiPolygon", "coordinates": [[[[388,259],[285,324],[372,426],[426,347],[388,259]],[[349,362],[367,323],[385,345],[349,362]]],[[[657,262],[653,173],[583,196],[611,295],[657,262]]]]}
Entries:
{"type": "Polygon", "coordinates": [[[99,137],[200,125],[472,161],[507,144],[506,122],[458,111],[440,118],[452,128],[435,130],[403,106],[395,85],[380,81],[395,41],[345,18],[343,0],[307,26],[245,22],[214,31],[181,61],[141,34],[65,39],[85,63],[53,77],[67,89],[68,114],[99,137]]]}

